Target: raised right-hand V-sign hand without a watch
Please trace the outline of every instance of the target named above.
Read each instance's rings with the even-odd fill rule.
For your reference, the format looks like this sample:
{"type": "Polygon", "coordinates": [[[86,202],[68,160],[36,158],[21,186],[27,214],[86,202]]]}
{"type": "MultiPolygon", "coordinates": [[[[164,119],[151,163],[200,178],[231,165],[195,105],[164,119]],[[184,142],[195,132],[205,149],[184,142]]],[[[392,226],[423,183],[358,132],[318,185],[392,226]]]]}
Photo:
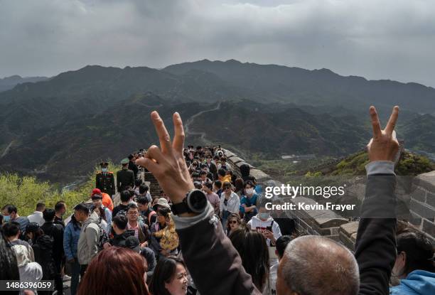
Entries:
{"type": "Polygon", "coordinates": [[[381,130],[379,118],[375,107],[370,107],[370,117],[372,118],[373,138],[367,144],[367,151],[370,162],[372,161],[394,161],[399,150],[399,142],[396,139],[397,117],[399,116],[399,107],[393,108],[390,120],[384,130],[381,130]]]}

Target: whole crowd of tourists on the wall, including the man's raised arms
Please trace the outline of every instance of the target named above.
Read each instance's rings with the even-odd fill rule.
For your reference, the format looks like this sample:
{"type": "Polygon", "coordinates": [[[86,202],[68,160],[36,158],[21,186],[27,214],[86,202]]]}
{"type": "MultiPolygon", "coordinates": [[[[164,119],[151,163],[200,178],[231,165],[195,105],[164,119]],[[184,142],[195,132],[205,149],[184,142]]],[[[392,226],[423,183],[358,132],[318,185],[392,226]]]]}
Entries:
{"type": "Polygon", "coordinates": [[[248,164],[232,165],[220,146],[184,148],[177,113],[171,142],[153,112],[160,148],[130,154],[116,177],[100,163],[92,202],[38,203],[27,217],[2,205],[0,279],[54,282],[52,291],[21,294],[63,294],[67,281],[73,295],[435,294],[434,246],[394,218],[397,113],[381,130],[370,109],[373,139],[355,253],[297,232],[288,217],[272,218],[248,164]],[[151,193],[144,171],[162,191],[151,193]],[[195,190],[207,200],[202,210],[190,204],[195,190]],[[177,209],[183,203],[191,210],[177,209]]]}

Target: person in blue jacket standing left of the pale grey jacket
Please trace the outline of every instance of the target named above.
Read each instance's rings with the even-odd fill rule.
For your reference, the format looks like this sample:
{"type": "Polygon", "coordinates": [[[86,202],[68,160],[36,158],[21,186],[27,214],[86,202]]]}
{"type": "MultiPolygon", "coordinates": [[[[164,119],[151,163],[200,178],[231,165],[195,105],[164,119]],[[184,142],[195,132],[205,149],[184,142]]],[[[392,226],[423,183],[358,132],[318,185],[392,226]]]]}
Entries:
{"type": "Polygon", "coordinates": [[[65,252],[66,262],[70,264],[71,269],[71,295],[77,293],[77,286],[80,280],[80,264],[77,259],[77,245],[80,238],[82,225],[80,217],[89,215],[89,209],[83,203],[79,203],[74,208],[74,214],[63,232],[63,250],[65,252]]]}

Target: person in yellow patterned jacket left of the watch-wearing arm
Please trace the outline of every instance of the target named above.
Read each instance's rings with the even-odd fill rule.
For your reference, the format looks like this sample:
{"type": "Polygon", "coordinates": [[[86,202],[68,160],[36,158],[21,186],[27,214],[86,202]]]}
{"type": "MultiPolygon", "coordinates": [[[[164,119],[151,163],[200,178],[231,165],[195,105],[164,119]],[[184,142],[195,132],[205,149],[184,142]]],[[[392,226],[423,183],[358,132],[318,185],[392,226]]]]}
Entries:
{"type": "Polygon", "coordinates": [[[157,210],[157,220],[151,225],[151,239],[149,247],[156,257],[176,254],[178,247],[178,235],[175,232],[171,219],[171,210],[160,207],[157,210]]]}

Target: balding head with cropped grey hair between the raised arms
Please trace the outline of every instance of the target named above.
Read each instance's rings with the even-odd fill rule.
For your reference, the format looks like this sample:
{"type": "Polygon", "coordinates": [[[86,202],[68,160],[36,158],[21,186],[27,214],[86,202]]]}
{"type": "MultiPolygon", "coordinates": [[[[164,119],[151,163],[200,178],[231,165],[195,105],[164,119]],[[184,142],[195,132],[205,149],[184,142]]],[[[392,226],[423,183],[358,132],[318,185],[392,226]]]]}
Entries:
{"type": "Polygon", "coordinates": [[[287,245],[276,284],[279,295],[355,295],[360,275],[347,248],[326,237],[307,235],[287,245]]]}

